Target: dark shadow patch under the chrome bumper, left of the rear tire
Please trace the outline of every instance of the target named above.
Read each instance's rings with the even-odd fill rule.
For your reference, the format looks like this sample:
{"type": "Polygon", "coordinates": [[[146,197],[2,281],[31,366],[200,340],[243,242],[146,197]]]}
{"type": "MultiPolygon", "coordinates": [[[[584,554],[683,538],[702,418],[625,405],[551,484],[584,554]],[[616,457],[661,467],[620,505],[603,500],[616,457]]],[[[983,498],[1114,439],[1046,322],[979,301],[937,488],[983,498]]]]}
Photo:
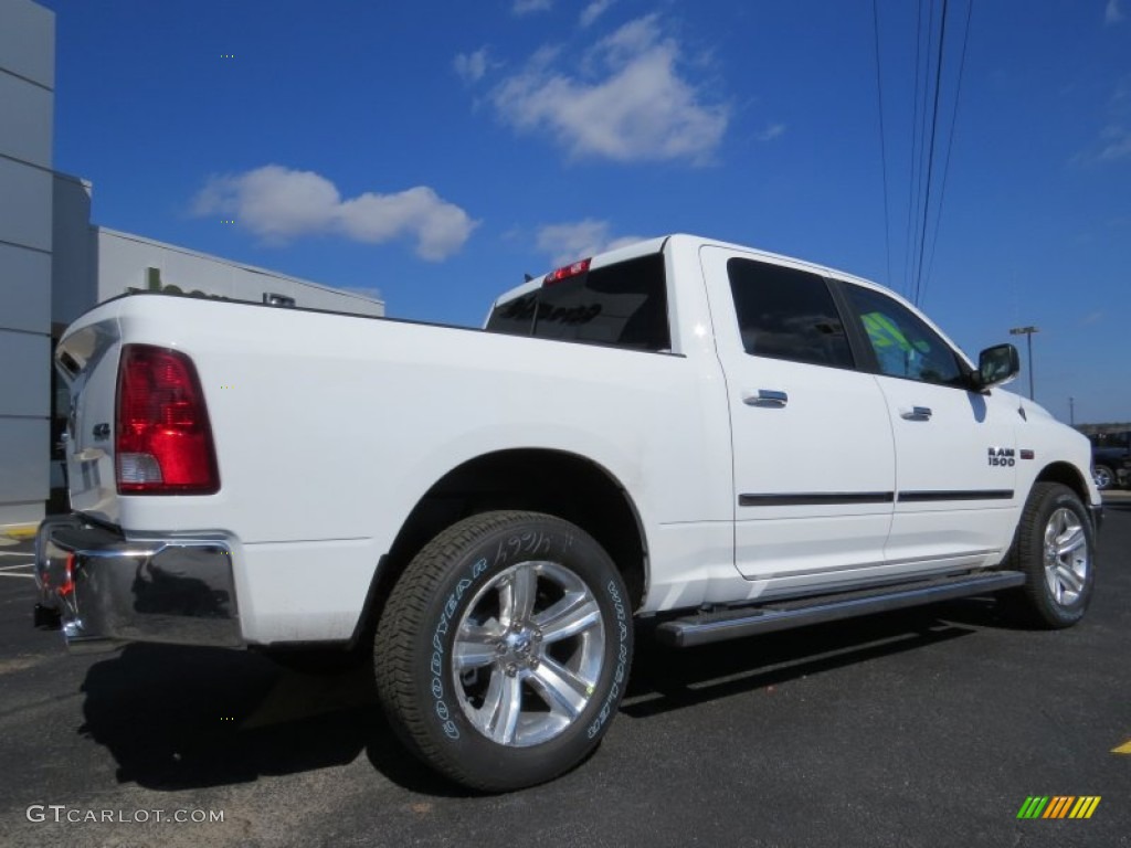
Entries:
{"type": "Polygon", "coordinates": [[[364,751],[396,784],[459,790],[394,737],[368,667],[307,675],[256,654],[130,644],[92,666],[78,732],[104,745],[118,780],[176,791],[353,762],[364,751]]]}

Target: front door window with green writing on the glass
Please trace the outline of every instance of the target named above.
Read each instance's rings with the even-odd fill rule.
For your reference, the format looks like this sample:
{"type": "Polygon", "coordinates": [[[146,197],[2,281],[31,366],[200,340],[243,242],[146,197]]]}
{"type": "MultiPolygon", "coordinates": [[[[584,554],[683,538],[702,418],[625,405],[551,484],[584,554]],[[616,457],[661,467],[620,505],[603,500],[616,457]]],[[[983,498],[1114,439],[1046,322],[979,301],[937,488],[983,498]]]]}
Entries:
{"type": "Polygon", "coordinates": [[[845,289],[867,332],[880,373],[927,383],[966,386],[955,352],[918,315],[870,288],[846,285],[845,289]]]}

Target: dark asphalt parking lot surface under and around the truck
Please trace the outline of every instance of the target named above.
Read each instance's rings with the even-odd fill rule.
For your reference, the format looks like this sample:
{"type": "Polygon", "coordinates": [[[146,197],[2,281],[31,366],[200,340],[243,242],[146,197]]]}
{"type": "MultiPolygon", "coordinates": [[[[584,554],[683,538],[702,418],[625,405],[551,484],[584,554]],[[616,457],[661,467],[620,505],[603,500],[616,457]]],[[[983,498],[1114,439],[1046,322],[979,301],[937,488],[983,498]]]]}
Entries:
{"type": "Polygon", "coordinates": [[[29,545],[0,543],[0,845],[1131,846],[1131,496],[1108,502],[1078,628],[1017,630],[970,599],[641,640],[597,753],[487,797],[402,753],[364,673],[68,656],[32,628],[29,545]],[[1019,820],[1030,796],[1100,802],[1019,820]]]}

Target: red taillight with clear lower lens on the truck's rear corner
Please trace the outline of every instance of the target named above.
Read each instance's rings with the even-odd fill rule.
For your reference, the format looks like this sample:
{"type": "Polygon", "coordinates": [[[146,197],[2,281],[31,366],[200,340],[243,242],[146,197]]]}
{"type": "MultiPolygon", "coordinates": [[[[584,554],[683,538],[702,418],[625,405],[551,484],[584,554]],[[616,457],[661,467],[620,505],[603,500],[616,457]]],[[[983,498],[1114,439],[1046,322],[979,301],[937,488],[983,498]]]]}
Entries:
{"type": "Polygon", "coordinates": [[[115,433],[119,494],[219,491],[205,396],[180,351],[122,348],[115,433]]]}

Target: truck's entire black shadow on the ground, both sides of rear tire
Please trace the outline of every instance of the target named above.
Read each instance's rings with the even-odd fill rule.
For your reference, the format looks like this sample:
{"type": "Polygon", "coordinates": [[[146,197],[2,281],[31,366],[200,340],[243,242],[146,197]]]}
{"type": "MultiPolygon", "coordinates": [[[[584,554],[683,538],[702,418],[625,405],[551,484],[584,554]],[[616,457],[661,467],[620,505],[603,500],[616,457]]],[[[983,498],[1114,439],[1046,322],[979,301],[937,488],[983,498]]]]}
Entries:
{"type": "MultiPolygon", "coordinates": [[[[972,602],[955,602],[683,651],[658,646],[641,631],[622,712],[646,719],[771,690],[968,635],[978,624],[992,625],[990,618],[972,602]]],[[[94,664],[81,689],[85,721],[78,733],[107,749],[121,782],[166,791],[243,784],[344,765],[364,752],[405,789],[472,794],[400,746],[381,715],[368,664],[313,676],[243,651],[130,644],[94,664]]]]}

